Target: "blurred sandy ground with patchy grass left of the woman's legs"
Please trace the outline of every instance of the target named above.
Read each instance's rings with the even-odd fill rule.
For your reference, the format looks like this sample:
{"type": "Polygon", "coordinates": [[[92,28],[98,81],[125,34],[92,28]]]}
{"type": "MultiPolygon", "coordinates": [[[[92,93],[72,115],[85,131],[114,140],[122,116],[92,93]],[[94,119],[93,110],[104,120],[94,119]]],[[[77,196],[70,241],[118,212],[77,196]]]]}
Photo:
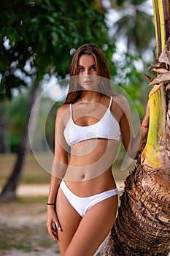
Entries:
{"type": "Polygon", "coordinates": [[[60,256],[58,245],[47,234],[45,200],[34,200],[46,197],[48,189],[48,185],[20,185],[18,196],[23,201],[0,205],[0,256],[60,256]]]}

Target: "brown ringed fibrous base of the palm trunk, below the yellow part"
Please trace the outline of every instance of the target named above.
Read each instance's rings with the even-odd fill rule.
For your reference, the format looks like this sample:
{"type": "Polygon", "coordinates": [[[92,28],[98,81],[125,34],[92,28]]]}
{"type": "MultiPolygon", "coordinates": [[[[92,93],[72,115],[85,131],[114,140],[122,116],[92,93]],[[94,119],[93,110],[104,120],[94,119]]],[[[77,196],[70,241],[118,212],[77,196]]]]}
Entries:
{"type": "Polygon", "coordinates": [[[170,247],[170,193],[166,177],[137,164],[126,178],[117,219],[102,256],[167,256],[170,247]]]}

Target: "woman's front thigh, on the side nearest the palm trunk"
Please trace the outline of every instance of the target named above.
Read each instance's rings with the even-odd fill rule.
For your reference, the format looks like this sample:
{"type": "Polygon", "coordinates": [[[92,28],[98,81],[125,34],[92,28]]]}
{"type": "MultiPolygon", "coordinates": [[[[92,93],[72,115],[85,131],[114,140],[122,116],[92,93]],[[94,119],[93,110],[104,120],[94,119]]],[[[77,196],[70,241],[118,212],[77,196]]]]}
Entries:
{"type": "Polygon", "coordinates": [[[82,218],[65,256],[93,256],[109,234],[117,214],[117,195],[91,207],[82,218]]]}

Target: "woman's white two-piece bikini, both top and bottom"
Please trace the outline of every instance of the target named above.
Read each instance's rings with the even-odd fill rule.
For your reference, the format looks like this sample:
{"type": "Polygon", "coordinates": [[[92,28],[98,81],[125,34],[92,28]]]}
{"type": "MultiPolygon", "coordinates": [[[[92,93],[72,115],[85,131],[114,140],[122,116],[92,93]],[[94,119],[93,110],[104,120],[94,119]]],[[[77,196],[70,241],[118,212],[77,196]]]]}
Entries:
{"type": "MultiPolygon", "coordinates": [[[[110,98],[106,113],[104,113],[104,116],[102,116],[96,124],[81,127],[74,123],[72,104],[70,104],[70,118],[64,129],[66,143],[68,143],[69,146],[73,146],[80,141],[93,138],[105,138],[119,141],[120,126],[116,118],[112,116],[110,110],[111,105],[112,97],[110,98]]],[[[69,203],[82,217],[85,216],[85,213],[96,203],[112,197],[113,195],[117,195],[117,188],[115,188],[90,197],[78,197],[66,186],[63,180],[61,181],[60,187],[69,200],[69,203]]]]}

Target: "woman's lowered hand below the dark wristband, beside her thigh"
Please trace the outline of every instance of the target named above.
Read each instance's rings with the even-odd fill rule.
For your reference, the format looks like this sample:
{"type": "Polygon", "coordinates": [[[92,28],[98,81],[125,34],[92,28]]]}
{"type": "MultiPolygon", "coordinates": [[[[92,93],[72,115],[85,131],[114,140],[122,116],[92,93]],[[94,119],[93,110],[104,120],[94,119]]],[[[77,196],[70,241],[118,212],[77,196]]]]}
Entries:
{"type": "Polygon", "coordinates": [[[58,231],[61,231],[61,225],[58,222],[54,206],[47,206],[47,230],[55,241],[58,240],[58,231]]]}

